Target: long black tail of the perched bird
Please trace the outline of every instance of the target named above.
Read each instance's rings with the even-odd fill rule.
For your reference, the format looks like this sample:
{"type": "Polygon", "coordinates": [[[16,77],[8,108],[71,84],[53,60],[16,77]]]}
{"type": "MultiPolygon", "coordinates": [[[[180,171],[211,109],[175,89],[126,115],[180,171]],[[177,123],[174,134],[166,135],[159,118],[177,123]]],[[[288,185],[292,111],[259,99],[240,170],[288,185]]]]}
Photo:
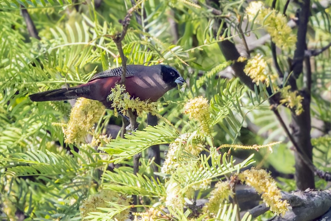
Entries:
{"type": "Polygon", "coordinates": [[[69,100],[82,97],[83,87],[61,88],[29,95],[32,101],[69,100]]]}

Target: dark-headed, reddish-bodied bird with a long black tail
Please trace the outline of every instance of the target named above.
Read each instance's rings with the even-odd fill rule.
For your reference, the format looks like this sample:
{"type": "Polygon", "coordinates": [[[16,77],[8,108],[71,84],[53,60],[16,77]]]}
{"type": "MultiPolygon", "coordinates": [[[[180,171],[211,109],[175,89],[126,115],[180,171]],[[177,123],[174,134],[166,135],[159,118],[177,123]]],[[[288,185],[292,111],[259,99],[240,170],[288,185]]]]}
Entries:
{"type": "MultiPolygon", "coordinates": [[[[95,74],[87,83],[69,88],[60,88],[29,95],[32,101],[59,101],[85,97],[101,101],[111,109],[108,95],[121,79],[122,67],[95,74]]],[[[177,84],[186,83],[179,72],[168,65],[127,65],[125,88],[132,98],[157,101],[177,84]]]]}

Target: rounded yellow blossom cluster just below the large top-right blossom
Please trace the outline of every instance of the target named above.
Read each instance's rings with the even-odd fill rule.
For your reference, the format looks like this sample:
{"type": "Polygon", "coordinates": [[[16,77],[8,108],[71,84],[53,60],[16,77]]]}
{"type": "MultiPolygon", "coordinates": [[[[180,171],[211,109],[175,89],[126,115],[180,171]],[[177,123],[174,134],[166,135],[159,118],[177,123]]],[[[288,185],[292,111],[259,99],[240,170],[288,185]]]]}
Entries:
{"type": "Polygon", "coordinates": [[[244,72],[246,75],[251,77],[253,82],[259,85],[259,82],[265,83],[269,86],[269,78],[270,76],[271,81],[276,79],[276,76],[273,75],[268,70],[268,66],[266,61],[263,59],[263,55],[257,54],[253,58],[248,59],[247,64],[245,66],[244,72]]]}

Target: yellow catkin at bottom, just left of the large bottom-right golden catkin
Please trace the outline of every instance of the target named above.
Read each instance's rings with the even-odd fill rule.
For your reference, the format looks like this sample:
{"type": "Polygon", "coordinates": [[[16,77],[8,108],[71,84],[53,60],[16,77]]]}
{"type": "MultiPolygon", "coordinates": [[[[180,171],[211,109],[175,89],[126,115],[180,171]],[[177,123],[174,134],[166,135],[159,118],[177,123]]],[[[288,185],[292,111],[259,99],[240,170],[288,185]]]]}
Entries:
{"type": "Polygon", "coordinates": [[[232,196],[232,190],[229,186],[229,182],[219,181],[215,185],[215,189],[210,193],[208,202],[203,207],[203,211],[208,213],[211,217],[217,214],[219,205],[224,203],[232,196]]]}

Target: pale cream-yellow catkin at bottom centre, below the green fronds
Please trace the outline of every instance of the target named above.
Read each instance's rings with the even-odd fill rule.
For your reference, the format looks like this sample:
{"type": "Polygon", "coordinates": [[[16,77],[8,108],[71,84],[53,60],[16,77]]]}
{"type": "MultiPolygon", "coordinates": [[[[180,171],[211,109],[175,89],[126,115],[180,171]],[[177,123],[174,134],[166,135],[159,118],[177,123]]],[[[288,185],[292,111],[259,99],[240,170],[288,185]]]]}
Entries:
{"type": "Polygon", "coordinates": [[[184,208],[184,196],[181,193],[180,185],[174,181],[169,181],[166,188],[166,207],[182,210],[184,208]]]}

